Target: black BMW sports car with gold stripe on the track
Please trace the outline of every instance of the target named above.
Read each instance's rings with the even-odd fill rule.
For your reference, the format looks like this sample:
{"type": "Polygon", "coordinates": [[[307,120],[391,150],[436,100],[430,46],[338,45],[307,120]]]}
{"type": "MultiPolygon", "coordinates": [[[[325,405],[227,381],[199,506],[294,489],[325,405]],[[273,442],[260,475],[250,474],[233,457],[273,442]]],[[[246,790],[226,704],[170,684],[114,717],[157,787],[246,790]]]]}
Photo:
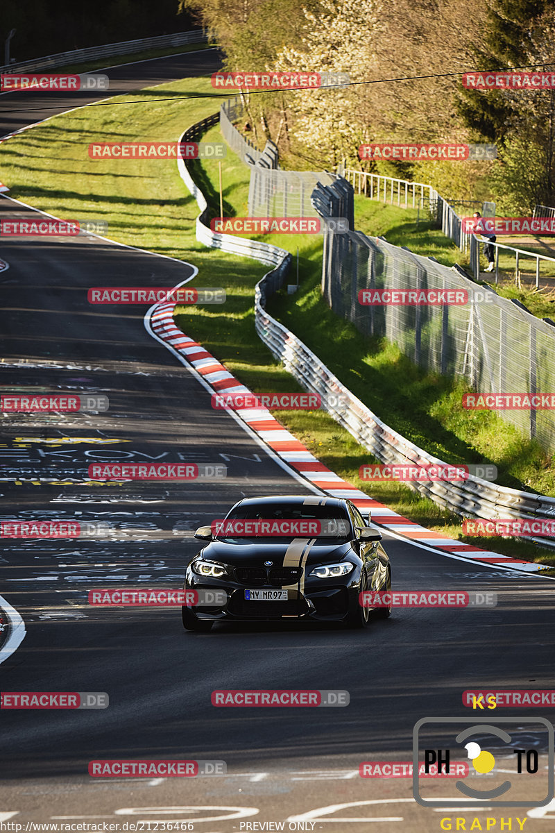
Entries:
{"type": "MultiPolygon", "coordinates": [[[[210,631],[215,621],[232,620],[365,627],[370,610],[360,606],[359,593],[391,588],[382,536],[348,500],[247,498],[225,519],[201,526],[195,537],[206,546],[187,566],[185,591],[225,591],[225,602],[183,606],[188,631],[210,631]]],[[[390,612],[378,607],[374,616],[390,612]]]]}

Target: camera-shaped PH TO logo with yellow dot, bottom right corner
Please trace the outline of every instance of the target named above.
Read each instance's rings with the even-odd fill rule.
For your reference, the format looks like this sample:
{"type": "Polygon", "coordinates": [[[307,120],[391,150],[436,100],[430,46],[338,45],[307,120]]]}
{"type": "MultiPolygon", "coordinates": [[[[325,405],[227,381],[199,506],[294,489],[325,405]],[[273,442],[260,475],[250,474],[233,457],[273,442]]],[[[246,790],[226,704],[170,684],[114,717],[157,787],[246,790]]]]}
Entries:
{"type": "MultiPolygon", "coordinates": [[[[475,723],[475,718],[423,717],[413,732],[413,795],[423,807],[464,805],[493,807],[543,807],[553,799],[553,726],[543,717],[496,717],[495,725],[475,723]],[[448,731],[443,748],[430,748],[427,736],[448,731]],[[420,753],[424,772],[420,775],[420,753]],[[449,775],[451,761],[468,758],[468,776],[453,781],[450,795],[429,798],[425,776],[437,767],[449,775]],[[494,754],[495,753],[495,754],[494,754]],[[539,755],[545,756],[545,766],[539,755]],[[496,760],[497,757],[497,760],[496,760]],[[497,771],[498,769],[498,771],[497,771]],[[510,775],[508,773],[510,771],[510,775]]],[[[450,782],[451,783],[451,782],[450,782]]]]}

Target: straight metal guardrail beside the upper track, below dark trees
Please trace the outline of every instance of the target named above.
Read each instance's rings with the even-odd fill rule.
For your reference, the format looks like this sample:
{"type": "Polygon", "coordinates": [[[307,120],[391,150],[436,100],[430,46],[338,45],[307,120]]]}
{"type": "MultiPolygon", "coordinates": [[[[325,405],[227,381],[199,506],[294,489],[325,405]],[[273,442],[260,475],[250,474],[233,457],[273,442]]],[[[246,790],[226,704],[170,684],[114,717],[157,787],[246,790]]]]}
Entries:
{"type": "Polygon", "coordinates": [[[67,67],[74,63],[94,61],[97,58],[111,57],[112,55],[129,55],[131,54],[131,52],[141,52],[143,49],[163,49],[165,47],[181,47],[186,43],[200,43],[206,40],[206,30],[191,29],[191,31],[189,32],[174,32],[170,35],[141,37],[135,41],[107,43],[104,46],[100,47],[72,49],[71,52],[57,52],[55,55],[46,55],[44,57],[38,57],[32,61],[23,61],[21,63],[10,63],[4,65],[3,67],[0,67],[0,72],[27,72],[36,69],[54,69],[55,67],[67,67]]]}

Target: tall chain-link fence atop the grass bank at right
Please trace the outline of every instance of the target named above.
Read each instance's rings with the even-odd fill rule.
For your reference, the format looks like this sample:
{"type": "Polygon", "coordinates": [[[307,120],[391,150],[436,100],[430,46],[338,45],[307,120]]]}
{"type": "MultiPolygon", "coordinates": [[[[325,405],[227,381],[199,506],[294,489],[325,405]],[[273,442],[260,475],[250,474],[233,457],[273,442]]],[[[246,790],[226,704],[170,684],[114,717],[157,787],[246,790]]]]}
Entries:
{"type": "MultiPolygon", "coordinates": [[[[330,216],[326,197],[327,210],[336,211],[330,189],[317,189],[314,201],[324,216],[330,216]]],[[[427,371],[465,377],[476,392],[555,391],[555,327],[518,302],[477,286],[459,267],[444,267],[434,258],[420,257],[380,237],[330,232],[325,240],[322,292],[334,312],[359,332],[396,343],[427,371]],[[468,302],[364,306],[359,292],[368,289],[464,290],[468,302]]],[[[553,410],[523,408],[499,414],[555,452],[553,410]]]]}

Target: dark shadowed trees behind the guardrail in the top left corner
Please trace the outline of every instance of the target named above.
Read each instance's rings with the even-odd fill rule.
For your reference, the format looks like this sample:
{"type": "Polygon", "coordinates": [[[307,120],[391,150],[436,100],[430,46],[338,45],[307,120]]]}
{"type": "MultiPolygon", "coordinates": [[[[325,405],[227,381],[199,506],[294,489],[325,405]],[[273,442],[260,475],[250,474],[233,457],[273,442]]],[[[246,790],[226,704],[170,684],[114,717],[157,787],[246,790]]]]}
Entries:
{"type": "Polygon", "coordinates": [[[191,28],[191,14],[178,0],[1,0],[0,64],[4,42],[16,61],[104,43],[153,37],[191,28]]]}

